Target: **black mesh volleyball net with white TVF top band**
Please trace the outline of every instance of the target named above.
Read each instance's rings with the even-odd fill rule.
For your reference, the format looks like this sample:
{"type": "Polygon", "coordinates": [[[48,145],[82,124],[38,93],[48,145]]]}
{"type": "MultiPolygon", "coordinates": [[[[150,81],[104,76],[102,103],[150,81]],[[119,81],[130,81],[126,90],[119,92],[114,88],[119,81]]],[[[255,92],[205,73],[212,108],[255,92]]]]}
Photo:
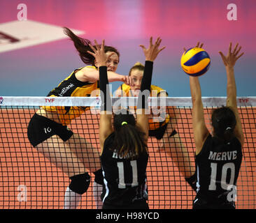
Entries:
{"type": "MultiPolygon", "coordinates": [[[[113,98],[113,104],[133,106],[136,98],[113,98]]],[[[195,196],[185,177],[194,168],[194,138],[192,131],[191,98],[149,98],[151,106],[150,122],[158,128],[159,104],[162,111],[169,114],[170,121],[162,139],[149,137],[149,162],[147,168],[148,204],[152,209],[190,209],[195,196]],[[163,104],[164,103],[164,104],[163,104]],[[158,107],[157,107],[158,106],[158,107]],[[158,112],[153,112],[153,107],[158,112]],[[173,130],[178,134],[171,136],[173,130]]],[[[216,107],[226,105],[226,98],[202,98],[206,125],[211,132],[211,113],[216,107]]],[[[99,152],[99,98],[45,98],[45,97],[0,97],[0,208],[1,209],[62,209],[64,194],[69,186],[69,176],[62,167],[83,169],[97,166],[90,158],[88,150],[99,152]],[[78,118],[73,119],[68,128],[79,143],[74,143],[74,151],[69,148],[59,150],[54,144],[56,166],[49,159],[47,146],[42,150],[34,148],[27,137],[27,126],[32,116],[41,106],[50,107],[90,107],[78,118]],[[78,154],[78,151],[80,153],[78,154]],[[66,153],[65,158],[60,158],[66,153]],[[68,153],[72,153],[69,155],[68,153]]],[[[245,135],[243,161],[236,183],[236,208],[256,208],[256,97],[238,98],[239,114],[245,135]]],[[[45,129],[47,131],[47,129],[45,129]]],[[[54,137],[53,137],[54,138],[54,137]]],[[[53,139],[52,139],[53,140],[53,139]]],[[[48,141],[48,144],[51,144],[48,141]]],[[[52,142],[53,144],[53,142],[52,142]]],[[[57,146],[56,146],[57,145],[57,146]]],[[[59,144],[61,146],[61,144],[59,144]]],[[[52,154],[51,154],[52,156],[52,154]]],[[[80,201],[79,209],[96,209],[94,196],[94,174],[90,187],[80,201]]]]}

